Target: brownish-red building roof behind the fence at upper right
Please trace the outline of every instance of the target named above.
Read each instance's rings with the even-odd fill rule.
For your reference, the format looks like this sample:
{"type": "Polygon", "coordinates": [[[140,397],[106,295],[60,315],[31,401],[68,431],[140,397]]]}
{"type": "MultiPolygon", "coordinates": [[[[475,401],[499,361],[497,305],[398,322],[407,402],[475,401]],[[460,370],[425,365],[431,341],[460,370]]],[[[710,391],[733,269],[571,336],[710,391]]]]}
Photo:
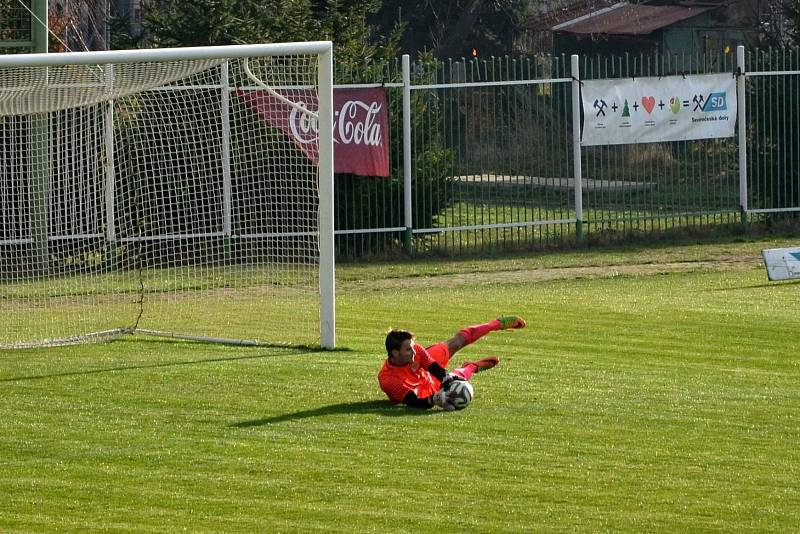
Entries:
{"type": "Polygon", "coordinates": [[[578,34],[645,35],[701,15],[717,6],[649,6],[620,2],[557,24],[553,31],[578,34]]]}

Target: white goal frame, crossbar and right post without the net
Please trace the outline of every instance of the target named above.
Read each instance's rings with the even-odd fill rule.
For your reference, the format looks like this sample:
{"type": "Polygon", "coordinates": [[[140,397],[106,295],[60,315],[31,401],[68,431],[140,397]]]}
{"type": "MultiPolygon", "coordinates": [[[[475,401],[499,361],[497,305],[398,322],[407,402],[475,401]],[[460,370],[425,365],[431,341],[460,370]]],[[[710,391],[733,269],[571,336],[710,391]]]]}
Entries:
{"type": "Polygon", "coordinates": [[[333,222],[333,43],[331,41],[104,50],[59,54],[12,54],[0,56],[0,69],[287,55],[316,55],[319,57],[317,72],[319,100],[317,114],[320,133],[318,147],[319,334],[320,345],[325,349],[333,349],[336,346],[336,289],[333,222]]]}

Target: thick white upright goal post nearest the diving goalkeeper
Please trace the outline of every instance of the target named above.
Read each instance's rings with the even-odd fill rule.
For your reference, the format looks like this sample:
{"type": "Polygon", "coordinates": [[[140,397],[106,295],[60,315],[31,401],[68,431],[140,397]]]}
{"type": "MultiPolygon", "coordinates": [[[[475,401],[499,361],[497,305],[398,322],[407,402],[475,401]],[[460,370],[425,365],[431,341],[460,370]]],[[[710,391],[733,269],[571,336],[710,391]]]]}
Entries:
{"type": "Polygon", "coordinates": [[[320,345],[336,347],[336,270],[333,242],[333,47],[319,61],[319,291],[320,345]]]}

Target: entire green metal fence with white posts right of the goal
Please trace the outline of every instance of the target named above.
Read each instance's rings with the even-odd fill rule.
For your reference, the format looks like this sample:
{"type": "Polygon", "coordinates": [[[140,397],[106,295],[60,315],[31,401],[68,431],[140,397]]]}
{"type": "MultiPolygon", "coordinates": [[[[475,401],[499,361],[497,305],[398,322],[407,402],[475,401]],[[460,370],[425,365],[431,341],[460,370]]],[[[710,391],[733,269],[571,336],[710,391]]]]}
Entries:
{"type": "MultiPolygon", "coordinates": [[[[742,49],[741,64],[736,52],[427,60],[368,73],[387,88],[392,176],[337,177],[337,254],[740,232],[800,211],[798,51],[742,49]],[[576,148],[578,78],[720,72],[742,73],[739,136],[576,148]]],[[[337,70],[339,83],[363,76],[337,70]]]]}

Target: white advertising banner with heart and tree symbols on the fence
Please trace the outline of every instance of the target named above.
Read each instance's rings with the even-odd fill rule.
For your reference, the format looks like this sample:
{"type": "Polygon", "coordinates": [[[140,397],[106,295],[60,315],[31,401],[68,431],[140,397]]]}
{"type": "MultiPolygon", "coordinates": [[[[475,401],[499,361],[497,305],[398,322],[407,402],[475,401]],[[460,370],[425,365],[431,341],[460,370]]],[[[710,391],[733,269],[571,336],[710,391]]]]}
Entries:
{"type": "Polygon", "coordinates": [[[698,74],[586,80],[581,145],[621,145],[732,137],[736,78],[698,74]]]}

